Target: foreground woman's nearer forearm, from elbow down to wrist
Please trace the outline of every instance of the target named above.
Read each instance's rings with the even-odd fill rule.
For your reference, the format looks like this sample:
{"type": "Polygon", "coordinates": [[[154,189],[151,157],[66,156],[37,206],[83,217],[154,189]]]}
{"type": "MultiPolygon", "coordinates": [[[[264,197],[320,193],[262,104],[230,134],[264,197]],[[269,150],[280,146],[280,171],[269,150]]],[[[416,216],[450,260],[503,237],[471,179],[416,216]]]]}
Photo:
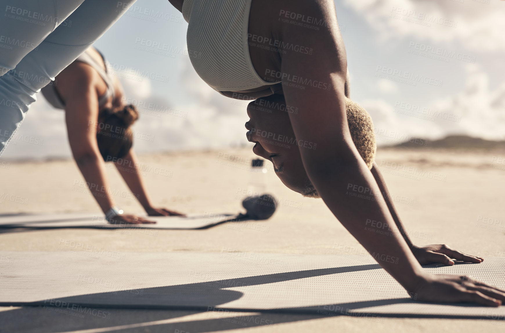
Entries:
{"type": "Polygon", "coordinates": [[[334,166],[332,171],[308,168],[308,173],[326,205],[374,259],[404,288],[412,291],[425,272],[401,237],[387,205],[375,199],[380,196],[379,187],[366,164],[351,148],[346,153],[324,155],[329,157],[325,164],[334,166]],[[360,191],[365,194],[363,197],[360,191]],[[372,228],[374,221],[376,227],[372,228]],[[379,228],[384,225],[391,231],[379,228]]]}

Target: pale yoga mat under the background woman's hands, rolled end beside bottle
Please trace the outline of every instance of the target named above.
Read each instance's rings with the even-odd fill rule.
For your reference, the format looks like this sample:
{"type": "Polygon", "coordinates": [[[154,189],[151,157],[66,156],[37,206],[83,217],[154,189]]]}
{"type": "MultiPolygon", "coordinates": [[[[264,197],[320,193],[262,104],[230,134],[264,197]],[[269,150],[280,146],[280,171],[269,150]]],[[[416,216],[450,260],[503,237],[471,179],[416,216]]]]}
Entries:
{"type": "Polygon", "coordinates": [[[99,213],[67,213],[67,214],[19,214],[0,216],[0,229],[12,228],[147,228],[147,229],[203,229],[233,220],[236,215],[231,214],[190,214],[181,216],[143,216],[154,220],[156,224],[110,224],[103,214],[99,213]]]}

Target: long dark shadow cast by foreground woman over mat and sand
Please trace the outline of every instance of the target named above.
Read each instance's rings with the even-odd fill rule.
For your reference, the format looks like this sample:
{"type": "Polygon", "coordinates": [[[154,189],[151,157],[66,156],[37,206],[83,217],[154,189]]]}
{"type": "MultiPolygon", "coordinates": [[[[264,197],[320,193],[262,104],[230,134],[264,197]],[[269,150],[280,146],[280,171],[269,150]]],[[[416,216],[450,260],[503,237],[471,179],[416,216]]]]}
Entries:
{"type": "MultiPolygon", "coordinates": [[[[225,290],[223,288],[238,286],[250,288],[263,284],[304,279],[313,276],[379,268],[381,267],[378,264],[368,264],[311,269],[247,276],[238,279],[147,288],[142,290],[142,293],[139,293],[139,290],[125,290],[71,296],[59,298],[58,300],[42,300],[29,304],[1,304],[2,306],[14,305],[23,307],[0,312],[0,322],[5,323],[2,328],[0,328],[0,333],[20,331],[48,333],[76,329],[90,329],[92,332],[195,333],[273,325],[300,320],[326,318],[328,316],[342,316],[343,319],[351,321],[357,321],[361,317],[363,320],[375,320],[374,322],[378,323],[380,322],[379,319],[383,316],[459,319],[479,318],[478,316],[409,315],[394,313],[387,315],[374,313],[345,315],[349,310],[415,302],[409,298],[321,304],[314,307],[275,310],[219,308],[221,304],[235,301],[243,296],[241,292],[225,290]],[[321,309],[319,313],[318,309],[321,309]],[[325,309],[334,310],[327,311],[325,309]],[[222,317],[216,314],[216,310],[219,310],[221,313],[239,312],[239,314],[235,313],[222,317]],[[250,314],[251,312],[255,314],[252,315],[250,314]],[[181,318],[191,314],[199,314],[199,317],[187,318],[186,320],[181,318]],[[30,319],[27,320],[27,318],[30,319]]],[[[459,304],[459,306],[471,305],[459,304]]],[[[486,319],[489,318],[486,317],[486,319]]]]}

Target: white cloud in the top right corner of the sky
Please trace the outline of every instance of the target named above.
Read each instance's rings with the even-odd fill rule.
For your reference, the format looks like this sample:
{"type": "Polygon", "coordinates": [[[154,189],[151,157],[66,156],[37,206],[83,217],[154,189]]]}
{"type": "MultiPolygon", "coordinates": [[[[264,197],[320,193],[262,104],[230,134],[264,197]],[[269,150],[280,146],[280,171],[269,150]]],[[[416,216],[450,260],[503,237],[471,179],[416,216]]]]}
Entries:
{"type": "Polygon", "coordinates": [[[344,0],[344,3],[364,17],[381,40],[409,36],[435,43],[458,41],[474,52],[505,51],[502,33],[505,6],[501,1],[483,4],[465,0],[460,4],[450,0],[344,0]]]}

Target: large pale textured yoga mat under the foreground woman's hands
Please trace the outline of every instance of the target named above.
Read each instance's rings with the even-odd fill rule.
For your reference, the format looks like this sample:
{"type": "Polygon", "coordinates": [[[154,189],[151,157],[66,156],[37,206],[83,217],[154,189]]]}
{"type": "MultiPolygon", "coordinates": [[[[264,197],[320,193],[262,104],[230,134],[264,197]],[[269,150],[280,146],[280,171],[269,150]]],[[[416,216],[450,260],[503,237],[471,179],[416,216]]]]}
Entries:
{"type": "MultiPolygon", "coordinates": [[[[411,300],[370,257],[114,252],[61,240],[57,252],[3,252],[0,306],[273,311],[329,316],[503,319],[505,306],[411,300]]],[[[505,288],[505,259],[425,267],[505,288]]]]}

